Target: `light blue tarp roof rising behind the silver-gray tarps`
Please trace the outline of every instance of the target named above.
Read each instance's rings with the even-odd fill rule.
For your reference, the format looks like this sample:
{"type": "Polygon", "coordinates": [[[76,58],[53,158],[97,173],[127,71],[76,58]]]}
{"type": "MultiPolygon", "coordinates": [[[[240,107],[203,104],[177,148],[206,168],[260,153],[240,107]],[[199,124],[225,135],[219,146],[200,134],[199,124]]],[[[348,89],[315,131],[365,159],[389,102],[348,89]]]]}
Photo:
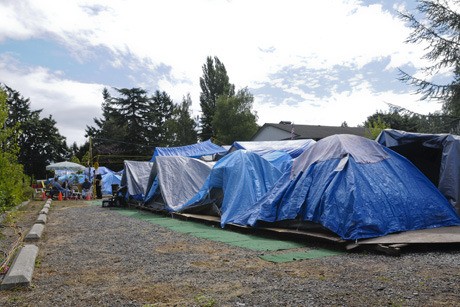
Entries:
{"type": "Polygon", "coordinates": [[[199,158],[203,156],[211,156],[214,154],[223,154],[225,153],[225,148],[216,145],[207,140],[205,142],[179,146],[179,147],[156,147],[152,159],[154,161],[157,156],[181,156],[181,157],[190,157],[190,158],[199,158]]]}

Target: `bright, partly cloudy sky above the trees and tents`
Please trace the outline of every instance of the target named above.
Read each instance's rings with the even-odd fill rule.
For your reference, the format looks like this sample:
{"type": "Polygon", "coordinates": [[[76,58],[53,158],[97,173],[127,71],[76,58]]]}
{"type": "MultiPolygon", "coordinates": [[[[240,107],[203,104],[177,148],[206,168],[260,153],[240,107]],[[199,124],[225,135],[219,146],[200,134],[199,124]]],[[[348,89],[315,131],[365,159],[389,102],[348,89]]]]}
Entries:
{"type": "Polygon", "coordinates": [[[388,103],[427,114],[397,80],[426,66],[423,45],[397,11],[416,3],[378,0],[0,0],[0,83],[56,120],[82,145],[101,117],[104,87],[190,93],[208,56],[236,89],[254,95],[258,124],[362,125],[388,103]]]}

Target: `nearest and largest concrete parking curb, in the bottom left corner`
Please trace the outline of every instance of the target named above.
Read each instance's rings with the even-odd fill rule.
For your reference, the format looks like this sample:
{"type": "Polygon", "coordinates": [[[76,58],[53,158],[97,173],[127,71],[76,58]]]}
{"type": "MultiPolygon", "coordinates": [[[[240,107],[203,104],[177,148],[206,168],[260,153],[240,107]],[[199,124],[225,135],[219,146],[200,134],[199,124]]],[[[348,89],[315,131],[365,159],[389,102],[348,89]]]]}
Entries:
{"type": "Polygon", "coordinates": [[[3,279],[0,289],[11,289],[19,286],[29,286],[35,267],[38,247],[33,244],[25,245],[14,259],[14,262],[3,279]]]}

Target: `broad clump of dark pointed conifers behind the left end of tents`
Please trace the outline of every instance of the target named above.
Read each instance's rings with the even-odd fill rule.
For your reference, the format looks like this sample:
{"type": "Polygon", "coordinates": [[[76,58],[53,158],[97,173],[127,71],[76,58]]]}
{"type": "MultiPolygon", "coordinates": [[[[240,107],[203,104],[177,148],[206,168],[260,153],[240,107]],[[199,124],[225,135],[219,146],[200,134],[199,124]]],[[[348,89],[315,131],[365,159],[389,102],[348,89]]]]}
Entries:
{"type": "MultiPolygon", "coordinates": [[[[103,90],[102,118],[94,118],[96,125],[87,127],[86,134],[93,142],[91,162],[102,155],[104,165],[120,169],[123,160],[145,160],[155,146],[169,145],[166,123],[174,106],[166,92],[148,97],[141,88],[114,90],[117,96],[103,90]]],[[[89,154],[81,156],[82,161],[89,160],[89,154]]]]}

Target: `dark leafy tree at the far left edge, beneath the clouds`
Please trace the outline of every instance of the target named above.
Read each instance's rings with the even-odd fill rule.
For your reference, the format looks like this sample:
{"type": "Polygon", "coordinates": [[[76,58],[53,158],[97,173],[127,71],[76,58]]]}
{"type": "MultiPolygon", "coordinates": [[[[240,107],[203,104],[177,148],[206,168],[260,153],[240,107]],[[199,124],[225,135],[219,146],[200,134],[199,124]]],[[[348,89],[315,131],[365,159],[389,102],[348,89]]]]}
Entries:
{"type": "Polygon", "coordinates": [[[50,115],[40,118],[42,110],[31,110],[30,101],[8,86],[3,86],[9,108],[6,127],[20,132],[14,144],[18,146],[18,162],[24,172],[33,178],[45,178],[45,167],[69,157],[65,138],[56,128],[50,115]]]}

